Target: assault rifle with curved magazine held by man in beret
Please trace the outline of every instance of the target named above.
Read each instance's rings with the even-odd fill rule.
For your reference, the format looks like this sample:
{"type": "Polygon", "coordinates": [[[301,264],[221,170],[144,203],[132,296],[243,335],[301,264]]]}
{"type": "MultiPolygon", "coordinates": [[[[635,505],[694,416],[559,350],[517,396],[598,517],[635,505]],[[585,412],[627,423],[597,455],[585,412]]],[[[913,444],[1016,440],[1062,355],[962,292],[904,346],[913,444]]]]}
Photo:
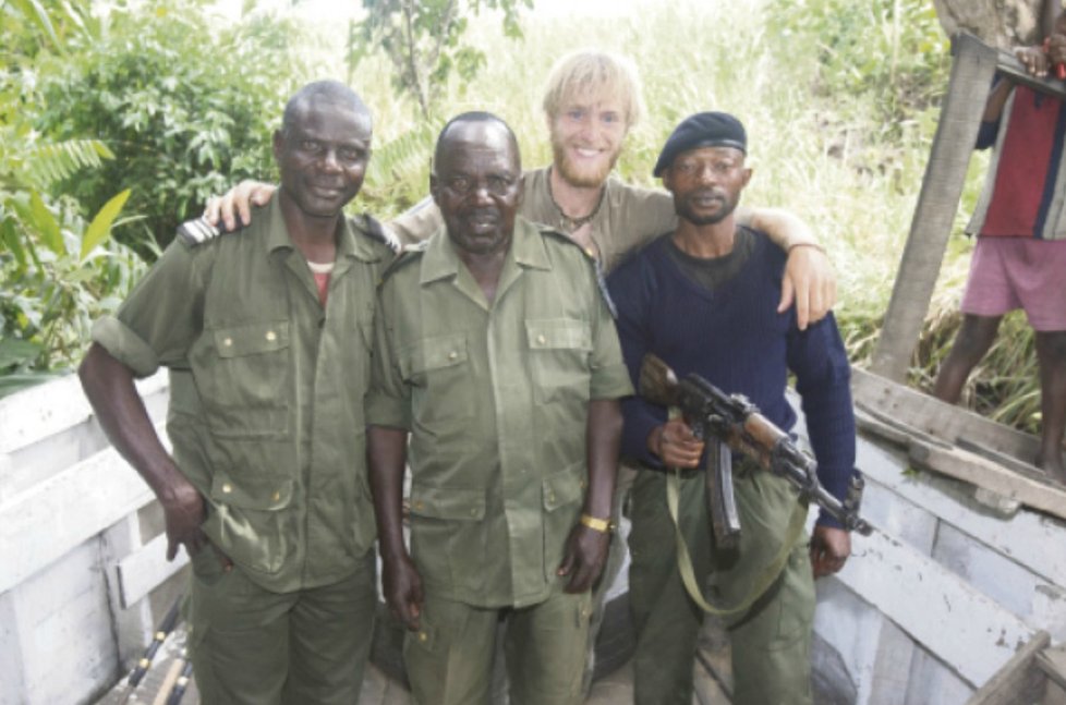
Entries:
{"type": "Polygon", "coordinates": [[[736,547],[740,538],[740,519],[732,496],[729,451],[748,455],[763,469],[785,477],[800,495],[813,501],[848,531],[869,536],[873,528],[861,516],[863,479],[851,475],[848,494],[841,502],[817,479],[817,463],[800,450],[795,441],[763,416],[741,394],[726,394],[696,374],[678,381],[665,362],[644,356],[638,382],[640,396],[661,406],[675,406],[685,416],[692,433],[712,442],[707,455],[706,488],[711,526],[717,545],[736,547]]]}

